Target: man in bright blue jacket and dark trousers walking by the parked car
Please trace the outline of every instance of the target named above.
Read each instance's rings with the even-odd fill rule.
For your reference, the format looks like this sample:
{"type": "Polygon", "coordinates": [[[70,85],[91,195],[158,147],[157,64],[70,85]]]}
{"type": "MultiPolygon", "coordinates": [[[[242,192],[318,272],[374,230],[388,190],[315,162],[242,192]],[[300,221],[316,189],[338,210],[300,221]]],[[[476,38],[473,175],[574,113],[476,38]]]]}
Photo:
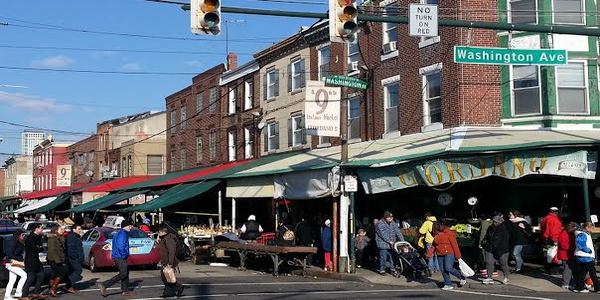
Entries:
{"type": "Polygon", "coordinates": [[[134,293],[129,290],[129,269],[127,267],[127,258],[129,257],[129,236],[128,233],[133,228],[133,224],[129,220],[121,222],[121,230],[115,234],[112,241],[111,257],[117,265],[119,274],[113,278],[99,283],[98,288],[103,297],[106,297],[106,289],[121,281],[121,295],[133,296],[134,293]]]}

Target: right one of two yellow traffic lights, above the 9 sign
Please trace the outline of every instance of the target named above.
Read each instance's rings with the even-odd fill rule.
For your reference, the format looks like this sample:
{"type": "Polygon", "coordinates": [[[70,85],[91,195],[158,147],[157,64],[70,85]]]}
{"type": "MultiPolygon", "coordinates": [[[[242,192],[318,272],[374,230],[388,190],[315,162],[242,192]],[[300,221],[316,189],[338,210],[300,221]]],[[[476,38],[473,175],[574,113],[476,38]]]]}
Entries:
{"type": "Polygon", "coordinates": [[[358,31],[356,0],[329,0],[329,39],[344,43],[353,41],[358,31]]]}

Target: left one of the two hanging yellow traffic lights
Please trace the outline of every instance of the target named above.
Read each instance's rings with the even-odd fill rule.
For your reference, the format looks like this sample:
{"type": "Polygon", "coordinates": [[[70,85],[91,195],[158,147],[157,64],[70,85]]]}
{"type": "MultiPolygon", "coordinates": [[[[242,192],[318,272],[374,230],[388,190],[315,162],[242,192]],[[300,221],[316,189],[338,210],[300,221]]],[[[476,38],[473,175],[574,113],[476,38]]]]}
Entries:
{"type": "Polygon", "coordinates": [[[221,1],[191,0],[192,33],[221,34],[221,1]]]}

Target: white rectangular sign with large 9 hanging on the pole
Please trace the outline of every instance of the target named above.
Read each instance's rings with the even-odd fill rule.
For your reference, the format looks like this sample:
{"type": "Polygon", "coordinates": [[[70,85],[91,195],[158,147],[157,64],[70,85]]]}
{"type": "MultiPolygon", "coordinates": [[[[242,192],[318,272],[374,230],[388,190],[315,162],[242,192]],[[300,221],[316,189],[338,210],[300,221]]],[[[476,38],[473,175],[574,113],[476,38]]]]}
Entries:
{"type": "Polygon", "coordinates": [[[305,99],[306,133],[340,136],[340,88],[307,86],[305,99]]]}

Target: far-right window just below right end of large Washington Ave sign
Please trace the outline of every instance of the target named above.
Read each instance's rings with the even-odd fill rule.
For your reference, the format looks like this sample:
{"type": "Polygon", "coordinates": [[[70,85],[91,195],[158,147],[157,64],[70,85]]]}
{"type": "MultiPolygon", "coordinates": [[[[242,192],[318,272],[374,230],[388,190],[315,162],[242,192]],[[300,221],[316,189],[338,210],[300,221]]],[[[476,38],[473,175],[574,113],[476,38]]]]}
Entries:
{"type": "Polygon", "coordinates": [[[556,67],[559,113],[588,113],[586,78],[583,62],[569,62],[556,67]]]}

